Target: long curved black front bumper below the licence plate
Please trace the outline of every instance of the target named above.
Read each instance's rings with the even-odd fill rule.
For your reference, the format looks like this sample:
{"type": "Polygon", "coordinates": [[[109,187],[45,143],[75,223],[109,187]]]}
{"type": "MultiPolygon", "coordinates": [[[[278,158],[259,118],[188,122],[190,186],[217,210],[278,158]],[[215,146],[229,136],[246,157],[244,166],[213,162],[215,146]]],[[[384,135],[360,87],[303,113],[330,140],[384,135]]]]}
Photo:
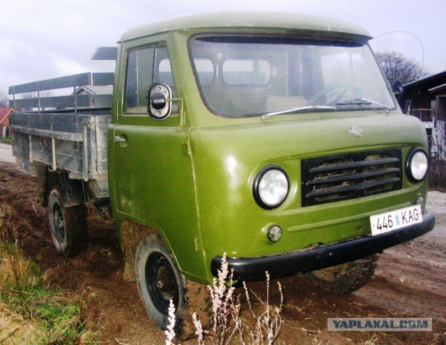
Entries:
{"type": "MultiPolygon", "coordinates": [[[[435,225],[435,216],[433,213],[426,213],[423,217],[424,220],[420,224],[378,236],[363,236],[285,254],[227,258],[226,261],[229,263],[229,270],[233,270],[234,280],[263,280],[266,278],[266,271],[271,277],[283,277],[319,270],[382,252],[389,247],[428,233],[435,225]]],[[[218,275],[221,264],[222,256],[214,256],[210,263],[210,270],[215,277],[218,275]]]]}

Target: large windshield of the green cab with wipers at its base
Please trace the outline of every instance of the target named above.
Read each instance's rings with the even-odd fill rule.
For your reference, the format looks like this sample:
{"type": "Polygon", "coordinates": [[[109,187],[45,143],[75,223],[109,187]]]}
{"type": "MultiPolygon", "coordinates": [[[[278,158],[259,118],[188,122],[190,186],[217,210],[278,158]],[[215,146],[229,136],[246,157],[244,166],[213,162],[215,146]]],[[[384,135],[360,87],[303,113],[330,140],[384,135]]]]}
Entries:
{"type": "Polygon", "coordinates": [[[394,108],[374,55],[363,43],[204,36],[191,40],[190,52],[203,100],[220,116],[289,114],[319,106],[394,108]]]}

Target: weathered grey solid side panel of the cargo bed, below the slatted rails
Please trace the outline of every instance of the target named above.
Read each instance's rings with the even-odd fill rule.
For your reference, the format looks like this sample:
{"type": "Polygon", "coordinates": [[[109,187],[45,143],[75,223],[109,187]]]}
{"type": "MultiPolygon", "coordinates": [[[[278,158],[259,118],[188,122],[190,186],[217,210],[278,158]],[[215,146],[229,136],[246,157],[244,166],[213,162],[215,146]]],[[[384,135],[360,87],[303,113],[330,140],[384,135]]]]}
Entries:
{"type": "Polygon", "coordinates": [[[29,165],[38,162],[68,171],[70,178],[107,178],[109,121],[108,114],[16,113],[13,152],[29,174],[29,165]]]}

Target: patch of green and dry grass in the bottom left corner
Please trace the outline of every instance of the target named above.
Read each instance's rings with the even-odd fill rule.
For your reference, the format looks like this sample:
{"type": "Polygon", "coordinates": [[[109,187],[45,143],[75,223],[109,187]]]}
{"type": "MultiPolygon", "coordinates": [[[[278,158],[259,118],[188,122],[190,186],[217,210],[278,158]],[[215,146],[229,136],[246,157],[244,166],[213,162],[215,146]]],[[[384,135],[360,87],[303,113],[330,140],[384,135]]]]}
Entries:
{"type": "Polygon", "coordinates": [[[0,344],[98,344],[86,330],[77,296],[45,289],[36,263],[8,242],[0,208],[0,344]]]}

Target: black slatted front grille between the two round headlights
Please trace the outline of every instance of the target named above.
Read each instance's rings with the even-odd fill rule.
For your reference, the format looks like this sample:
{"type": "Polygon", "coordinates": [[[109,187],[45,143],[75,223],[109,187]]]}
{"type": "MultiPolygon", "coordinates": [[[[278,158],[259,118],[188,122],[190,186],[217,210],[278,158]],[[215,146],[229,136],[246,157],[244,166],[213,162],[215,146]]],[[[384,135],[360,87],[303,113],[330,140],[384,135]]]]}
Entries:
{"type": "Polygon", "coordinates": [[[302,160],[302,206],[400,190],[401,148],[302,160]]]}

